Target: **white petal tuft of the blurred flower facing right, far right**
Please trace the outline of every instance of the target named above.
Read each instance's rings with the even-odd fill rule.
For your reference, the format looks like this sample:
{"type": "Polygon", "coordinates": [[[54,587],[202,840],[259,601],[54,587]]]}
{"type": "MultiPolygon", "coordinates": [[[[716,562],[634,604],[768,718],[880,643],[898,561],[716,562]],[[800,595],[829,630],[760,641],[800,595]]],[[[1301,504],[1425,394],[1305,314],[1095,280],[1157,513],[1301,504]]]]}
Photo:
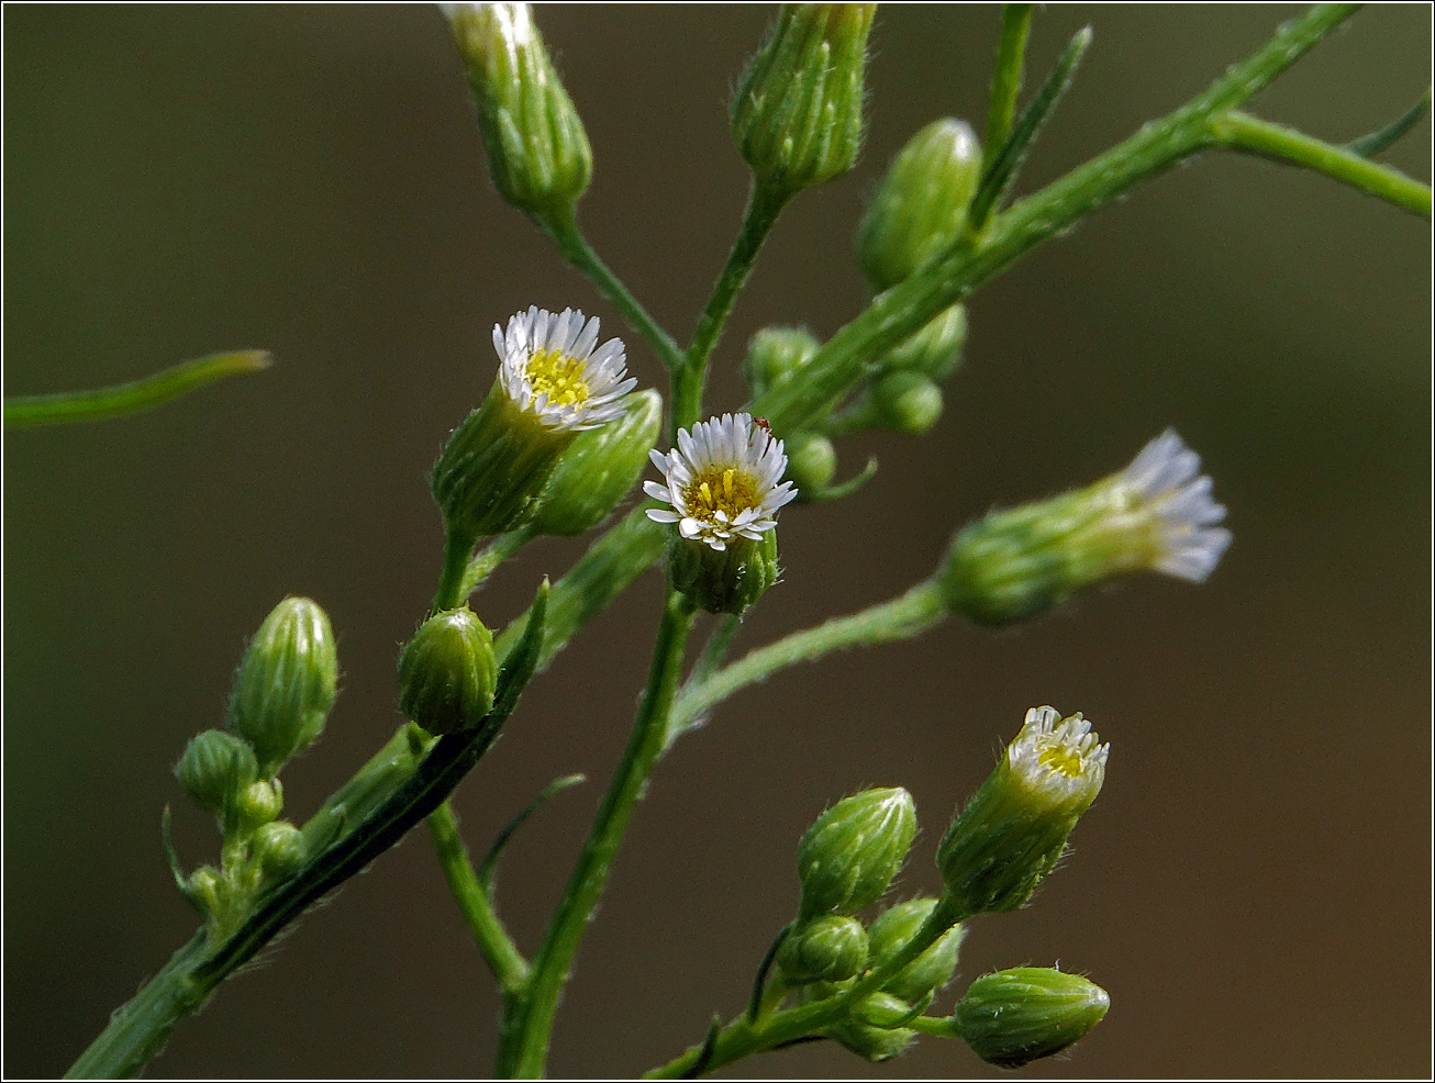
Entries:
{"type": "Polygon", "coordinates": [[[1231,532],[1215,525],[1225,508],[1211,499],[1211,478],[1197,478],[1200,470],[1201,456],[1167,429],[1115,478],[1135,509],[1154,516],[1159,551],[1151,567],[1191,582],[1204,582],[1231,544],[1231,532]]]}

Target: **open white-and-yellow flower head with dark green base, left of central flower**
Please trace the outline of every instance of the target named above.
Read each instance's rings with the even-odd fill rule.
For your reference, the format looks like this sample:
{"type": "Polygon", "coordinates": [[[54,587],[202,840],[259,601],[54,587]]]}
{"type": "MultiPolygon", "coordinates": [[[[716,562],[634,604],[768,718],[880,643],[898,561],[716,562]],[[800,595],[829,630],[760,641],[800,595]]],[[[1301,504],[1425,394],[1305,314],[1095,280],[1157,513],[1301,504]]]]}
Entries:
{"type": "Polygon", "coordinates": [[[580,432],[623,415],[637,383],[624,379],[620,339],[598,341],[597,317],[537,306],[494,327],[498,379],[484,405],[449,436],[430,488],[451,535],[504,534],[537,509],[580,432]]]}

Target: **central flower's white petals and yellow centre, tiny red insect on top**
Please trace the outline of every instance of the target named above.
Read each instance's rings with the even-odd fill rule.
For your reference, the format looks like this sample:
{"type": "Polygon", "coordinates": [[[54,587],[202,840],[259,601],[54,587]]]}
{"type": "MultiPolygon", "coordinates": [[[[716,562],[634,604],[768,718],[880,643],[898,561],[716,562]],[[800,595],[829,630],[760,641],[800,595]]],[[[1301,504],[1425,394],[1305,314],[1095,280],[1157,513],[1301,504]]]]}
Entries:
{"type": "Polygon", "coordinates": [[[677,448],[667,455],[653,450],[650,456],[667,485],[643,482],[643,489],[672,509],[653,508],[647,516],[676,522],[684,538],[718,551],[735,536],[758,541],[778,525],[778,508],[798,495],[792,482],[778,485],[788,468],[782,440],[772,439],[746,413],[699,422],[692,433],[680,429],[677,448]]]}

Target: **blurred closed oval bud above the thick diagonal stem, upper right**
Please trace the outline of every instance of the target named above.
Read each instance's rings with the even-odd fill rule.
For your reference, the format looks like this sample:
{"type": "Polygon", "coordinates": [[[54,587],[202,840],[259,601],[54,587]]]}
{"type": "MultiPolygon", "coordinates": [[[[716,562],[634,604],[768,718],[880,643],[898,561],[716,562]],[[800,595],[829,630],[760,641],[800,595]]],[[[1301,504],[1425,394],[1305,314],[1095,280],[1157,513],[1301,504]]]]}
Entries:
{"type": "Polygon", "coordinates": [[[949,247],[982,179],[982,143],[966,120],[933,120],[893,159],[862,218],[857,252],[874,293],[910,278],[949,247]]]}

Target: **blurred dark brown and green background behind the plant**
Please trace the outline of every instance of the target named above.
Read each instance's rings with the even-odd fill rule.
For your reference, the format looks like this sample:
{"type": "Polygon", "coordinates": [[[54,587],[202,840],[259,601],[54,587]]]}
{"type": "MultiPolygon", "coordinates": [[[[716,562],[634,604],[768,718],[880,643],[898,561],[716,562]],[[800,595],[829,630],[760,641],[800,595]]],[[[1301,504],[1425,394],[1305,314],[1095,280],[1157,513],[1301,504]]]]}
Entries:
{"type": "MultiPolygon", "coordinates": [[[[1299,9],[1068,7],[1039,79],[1092,23],[1023,192],[1201,88],[1299,9]]],[[[540,11],[588,126],[593,242],[686,337],[746,172],[725,103],[766,7],[540,11]]],[[[1429,10],[1375,7],[1254,109],[1343,141],[1421,92],[1429,10]]],[[[4,439],[6,1049],[65,1070],[192,931],[168,882],[215,856],[169,765],[220,723],[245,637],[290,592],[333,617],[343,696],[286,772],[311,812],[397,724],[396,645],[428,602],[426,470],[528,304],[617,316],[486,181],[443,20],[406,7],[6,6],[6,393],[129,379],[220,349],[278,363],[159,412],[4,439]]],[[[716,360],[758,327],[831,334],[865,303],[851,237],[885,162],[938,115],[984,116],[993,6],[891,7],[848,178],[779,224],[716,360]]],[[[1388,159],[1428,178],[1429,122],[1388,159]]],[[[739,648],[887,598],[997,502],[1124,465],[1167,425],[1205,458],[1236,545],[1205,588],[1151,577],[1007,634],[951,624],[735,699],[663,763],[568,990],[560,1076],[627,1074],[730,1014],[792,914],[806,823],[904,785],[926,832],[904,891],[1026,707],[1083,710],[1106,790],[1030,909],[976,922],[971,978],[1033,963],[1111,990],[1046,1076],[1429,1072],[1429,232],[1329,179],[1207,156],[1049,244],[971,304],[924,440],[860,496],[784,516],[788,568],[739,648]]],[[[629,337],[633,370],[660,377],[629,337]]],[[[498,624],[581,544],[534,547],[482,595],[498,624]]],[[[647,664],[659,580],[530,690],[465,783],[469,845],[555,775],[501,901],[537,945],[647,664]]],[[[960,984],[959,987],[960,988],[960,984]]],[[[944,1001],[944,1003],[950,1003],[944,1001]]],[[[185,1023],[149,1074],[466,1076],[497,1000],[423,833],[310,914],[185,1023]]],[[[817,1044],[730,1074],[994,1074],[926,1040],[870,1067],[817,1044]]]]}

